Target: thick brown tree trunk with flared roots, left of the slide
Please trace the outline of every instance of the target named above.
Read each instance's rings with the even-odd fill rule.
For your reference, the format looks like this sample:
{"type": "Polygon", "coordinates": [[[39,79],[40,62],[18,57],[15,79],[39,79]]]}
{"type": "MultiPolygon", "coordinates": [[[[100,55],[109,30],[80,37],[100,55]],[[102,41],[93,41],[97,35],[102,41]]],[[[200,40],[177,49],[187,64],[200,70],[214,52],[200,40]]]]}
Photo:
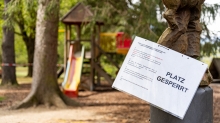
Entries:
{"type": "Polygon", "coordinates": [[[76,105],[59,88],[56,75],[59,0],[39,0],[31,92],[14,108],[45,104],[65,107],[76,105]],[[50,7],[50,8],[47,8],[50,7]]]}

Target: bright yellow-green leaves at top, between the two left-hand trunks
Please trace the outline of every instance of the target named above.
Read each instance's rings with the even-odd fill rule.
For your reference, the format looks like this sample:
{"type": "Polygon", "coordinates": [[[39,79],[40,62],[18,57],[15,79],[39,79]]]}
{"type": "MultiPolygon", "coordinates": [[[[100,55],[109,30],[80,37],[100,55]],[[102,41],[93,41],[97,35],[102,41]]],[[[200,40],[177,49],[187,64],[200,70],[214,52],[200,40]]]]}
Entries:
{"type": "Polygon", "coordinates": [[[28,37],[35,37],[35,26],[37,16],[37,1],[11,0],[8,3],[5,15],[8,19],[4,22],[6,26],[18,26],[17,34],[27,33],[28,37]]]}

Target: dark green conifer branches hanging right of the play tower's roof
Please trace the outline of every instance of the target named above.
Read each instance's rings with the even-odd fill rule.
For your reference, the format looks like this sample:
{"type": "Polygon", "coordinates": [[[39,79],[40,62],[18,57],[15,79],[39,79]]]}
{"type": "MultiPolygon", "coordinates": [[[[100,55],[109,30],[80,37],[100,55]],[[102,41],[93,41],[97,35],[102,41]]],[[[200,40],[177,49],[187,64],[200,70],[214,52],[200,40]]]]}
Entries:
{"type": "Polygon", "coordinates": [[[90,5],[97,20],[105,22],[104,32],[127,32],[152,41],[157,41],[166,28],[166,24],[158,20],[161,0],[140,0],[133,4],[131,1],[99,1],[84,0],[90,5]]]}

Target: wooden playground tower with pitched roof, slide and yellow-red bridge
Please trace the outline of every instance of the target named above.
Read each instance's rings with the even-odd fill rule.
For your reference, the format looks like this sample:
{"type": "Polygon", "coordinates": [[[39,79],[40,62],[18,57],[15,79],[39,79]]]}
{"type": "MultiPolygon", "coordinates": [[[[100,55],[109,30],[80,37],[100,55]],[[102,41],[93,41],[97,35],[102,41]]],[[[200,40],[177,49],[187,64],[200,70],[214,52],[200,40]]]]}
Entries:
{"type": "Polygon", "coordinates": [[[86,80],[87,83],[81,84],[84,85],[83,89],[93,91],[103,85],[111,87],[120,69],[120,64],[116,63],[117,59],[114,57],[125,56],[132,44],[132,36],[124,32],[101,32],[104,23],[99,20],[93,25],[91,39],[84,39],[82,34],[84,23],[90,23],[91,20],[88,18],[93,16],[90,9],[78,3],[61,18],[61,22],[65,24],[64,63],[66,63],[62,68],[65,75],[61,85],[64,94],[69,97],[78,96],[79,85],[83,81],[81,76],[85,73],[89,73],[89,78],[86,80]],[[75,16],[78,18],[74,18],[75,16]],[[103,64],[104,57],[104,63],[109,64],[114,73],[106,70],[103,64]],[[101,79],[107,83],[103,84],[101,79]]]}

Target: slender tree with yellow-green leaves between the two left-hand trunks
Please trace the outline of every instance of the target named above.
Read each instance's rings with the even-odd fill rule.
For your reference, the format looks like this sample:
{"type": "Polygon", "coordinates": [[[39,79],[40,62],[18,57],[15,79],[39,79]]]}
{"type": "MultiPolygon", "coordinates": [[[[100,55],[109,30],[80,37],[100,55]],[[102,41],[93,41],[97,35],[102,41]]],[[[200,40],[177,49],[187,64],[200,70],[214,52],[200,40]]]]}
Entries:
{"type": "MultiPolygon", "coordinates": [[[[22,36],[27,49],[28,63],[33,63],[34,59],[36,13],[36,0],[11,0],[8,5],[8,11],[6,11],[7,16],[14,20],[11,23],[6,21],[6,25],[18,27],[19,32],[15,33],[22,36]]],[[[29,65],[27,76],[31,77],[32,73],[33,66],[29,65]]]]}

